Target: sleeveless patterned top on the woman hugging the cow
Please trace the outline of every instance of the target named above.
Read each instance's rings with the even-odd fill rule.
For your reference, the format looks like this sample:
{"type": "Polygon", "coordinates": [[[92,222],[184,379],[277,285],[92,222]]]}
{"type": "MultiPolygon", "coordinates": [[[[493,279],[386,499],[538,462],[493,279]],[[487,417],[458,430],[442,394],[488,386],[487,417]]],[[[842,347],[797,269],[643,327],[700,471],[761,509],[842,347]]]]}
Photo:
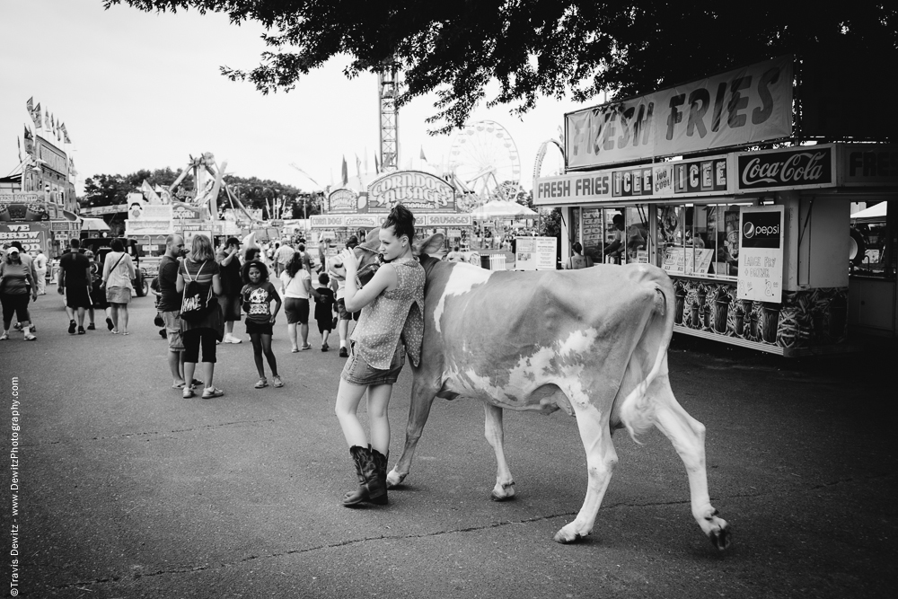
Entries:
{"type": "Polygon", "coordinates": [[[400,341],[405,343],[409,360],[418,366],[424,341],[424,267],[418,259],[392,262],[398,285],[384,291],[362,308],[351,340],[355,350],[373,368],[390,368],[400,341]]]}

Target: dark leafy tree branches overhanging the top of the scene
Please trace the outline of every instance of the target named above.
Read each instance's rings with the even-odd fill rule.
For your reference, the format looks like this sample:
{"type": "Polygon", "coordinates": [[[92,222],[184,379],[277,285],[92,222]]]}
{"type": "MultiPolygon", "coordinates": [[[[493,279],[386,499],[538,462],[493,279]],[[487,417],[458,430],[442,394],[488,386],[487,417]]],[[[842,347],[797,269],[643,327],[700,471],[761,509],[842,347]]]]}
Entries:
{"type": "Polygon", "coordinates": [[[249,71],[222,67],[263,93],[289,90],[331,57],[353,58],[348,77],[401,69],[399,105],[436,92],[433,133],[461,127],[486,98],[524,113],[540,96],[599,92],[624,98],[770,57],[795,54],[841,61],[898,56],[898,4],[876,0],[826,5],[691,3],[656,0],[104,0],[146,12],[226,13],[260,22],[269,46],[249,71]]]}

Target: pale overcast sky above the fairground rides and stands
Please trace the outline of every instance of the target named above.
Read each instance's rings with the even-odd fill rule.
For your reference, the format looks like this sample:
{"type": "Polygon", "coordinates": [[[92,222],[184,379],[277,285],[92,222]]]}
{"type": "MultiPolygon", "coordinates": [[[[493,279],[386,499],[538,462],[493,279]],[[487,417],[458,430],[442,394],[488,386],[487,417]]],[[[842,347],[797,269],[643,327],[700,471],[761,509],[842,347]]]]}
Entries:
{"type": "MultiPolygon", "coordinates": [[[[350,175],[355,155],[370,169],[378,152],[375,75],[347,80],[346,61],[308,75],[293,92],[268,96],[252,84],[220,75],[222,65],[258,65],[260,26],[231,25],[225,15],[142,13],[128,6],[104,11],[101,0],[0,1],[0,176],[19,163],[17,136],[33,96],[66,123],[79,172],[180,169],[189,154],[212,152],[227,172],[315,189],[296,163],[323,187],[339,182],[342,156],[350,175]]],[[[400,111],[400,162],[448,158],[452,137],[427,135],[434,97],[400,111]]],[[[595,103],[598,103],[597,101],[595,103]]],[[[524,119],[508,108],[480,108],[472,120],[493,119],[515,139],[522,184],[532,186],[542,141],[558,136],[572,102],[541,101],[524,119]]],[[[364,170],[364,169],[363,169],[364,170]]]]}

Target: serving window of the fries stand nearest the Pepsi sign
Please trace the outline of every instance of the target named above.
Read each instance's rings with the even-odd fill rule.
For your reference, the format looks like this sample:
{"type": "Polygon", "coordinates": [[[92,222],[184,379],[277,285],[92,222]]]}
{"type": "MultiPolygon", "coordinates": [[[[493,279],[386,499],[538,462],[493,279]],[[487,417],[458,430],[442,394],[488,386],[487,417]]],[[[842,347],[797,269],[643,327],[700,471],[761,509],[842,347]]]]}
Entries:
{"type": "Polygon", "coordinates": [[[735,279],[739,274],[740,204],[656,207],[656,265],[671,275],[735,279]]]}

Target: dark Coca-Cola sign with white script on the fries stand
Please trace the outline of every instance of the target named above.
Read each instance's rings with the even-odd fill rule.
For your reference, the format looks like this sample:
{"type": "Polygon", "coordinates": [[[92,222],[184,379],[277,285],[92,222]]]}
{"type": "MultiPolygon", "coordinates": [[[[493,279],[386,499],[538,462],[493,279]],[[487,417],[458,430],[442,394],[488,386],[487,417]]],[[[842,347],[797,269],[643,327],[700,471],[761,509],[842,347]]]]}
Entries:
{"type": "Polygon", "coordinates": [[[832,185],[830,145],[740,154],[738,164],[741,190],[832,185]]]}

